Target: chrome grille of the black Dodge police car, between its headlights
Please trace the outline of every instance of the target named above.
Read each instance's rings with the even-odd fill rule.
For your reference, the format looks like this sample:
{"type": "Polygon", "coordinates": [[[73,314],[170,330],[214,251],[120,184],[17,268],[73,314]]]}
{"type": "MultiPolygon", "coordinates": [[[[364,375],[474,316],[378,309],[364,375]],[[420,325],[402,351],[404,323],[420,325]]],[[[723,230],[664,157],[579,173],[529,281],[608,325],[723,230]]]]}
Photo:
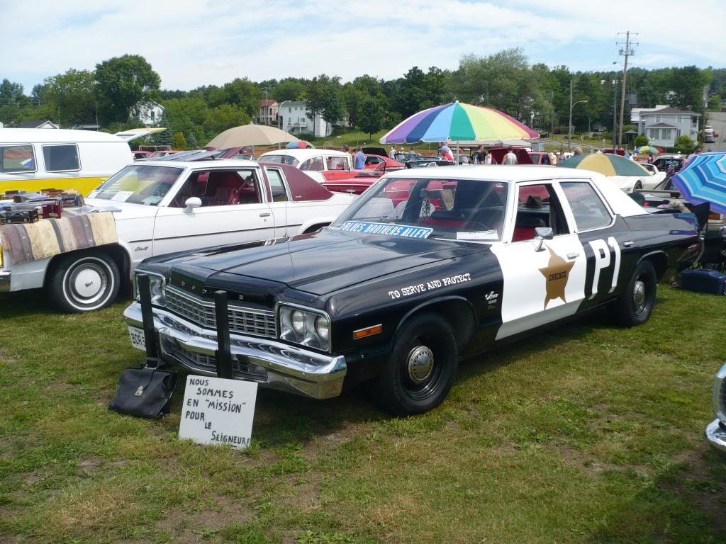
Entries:
{"type": "MultiPolygon", "coordinates": [[[[171,285],[166,287],[166,308],[208,329],[217,328],[214,302],[203,300],[171,285]]],[[[229,332],[275,338],[274,312],[229,305],[229,332]]]]}

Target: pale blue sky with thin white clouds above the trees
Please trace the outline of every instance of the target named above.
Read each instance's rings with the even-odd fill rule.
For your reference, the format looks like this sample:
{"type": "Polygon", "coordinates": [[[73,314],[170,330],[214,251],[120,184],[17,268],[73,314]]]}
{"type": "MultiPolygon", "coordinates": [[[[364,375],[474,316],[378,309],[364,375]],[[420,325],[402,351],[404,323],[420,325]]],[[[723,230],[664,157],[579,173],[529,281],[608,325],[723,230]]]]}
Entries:
{"type": "Polygon", "coordinates": [[[640,33],[635,65],[726,65],[722,0],[701,0],[698,7],[661,0],[648,9],[633,1],[593,4],[0,0],[0,78],[20,81],[30,92],[49,75],[93,70],[104,59],[133,53],[146,57],[163,88],[319,73],[343,81],[363,73],[390,79],[413,65],[454,69],[462,54],[515,46],[531,62],[605,70],[621,61],[615,42],[624,30],[640,33]]]}

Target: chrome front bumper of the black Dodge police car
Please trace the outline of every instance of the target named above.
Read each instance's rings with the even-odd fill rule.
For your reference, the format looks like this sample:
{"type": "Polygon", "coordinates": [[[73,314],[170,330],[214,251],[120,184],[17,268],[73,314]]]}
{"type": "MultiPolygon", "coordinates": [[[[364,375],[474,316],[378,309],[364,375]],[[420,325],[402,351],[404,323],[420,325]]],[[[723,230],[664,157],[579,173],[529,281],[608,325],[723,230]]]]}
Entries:
{"type": "MultiPolygon", "coordinates": [[[[159,308],[153,309],[160,357],[195,374],[216,376],[217,333],[159,308]]],[[[141,305],[123,312],[126,323],[142,328],[141,305]]],[[[346,360],[294,347],[274,339],[232,334],[229,337],[235,379],[263,387],[324,399],[337,397],[346,377],[346,360]]]]}

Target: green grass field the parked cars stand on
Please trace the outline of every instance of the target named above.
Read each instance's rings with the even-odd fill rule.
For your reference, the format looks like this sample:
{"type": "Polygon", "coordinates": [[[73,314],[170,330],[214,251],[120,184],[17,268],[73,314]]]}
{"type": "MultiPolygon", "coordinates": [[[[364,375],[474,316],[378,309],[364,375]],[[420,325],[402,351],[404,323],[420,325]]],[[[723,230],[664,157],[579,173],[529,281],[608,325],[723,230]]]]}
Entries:
{"type": "Polygon", "coordinates": [[[635,329],[596,314],[465,361],[440,408],[261,390],[244,453],[107,410],[142,361],[121,313],[0,295],[2,543],[719,543],[706,444],[726,297],[661,286],[635,329]]]}

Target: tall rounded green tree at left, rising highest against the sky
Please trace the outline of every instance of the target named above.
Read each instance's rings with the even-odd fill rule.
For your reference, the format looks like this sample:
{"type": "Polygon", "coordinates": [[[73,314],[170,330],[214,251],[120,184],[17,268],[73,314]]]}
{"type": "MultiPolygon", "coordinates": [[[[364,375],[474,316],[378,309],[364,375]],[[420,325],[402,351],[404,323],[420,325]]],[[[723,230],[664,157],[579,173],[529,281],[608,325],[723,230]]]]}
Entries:
{"type": "Polygon", "coordinates": [[[156,97],[161,82],[144,57],[128,54],[97,64],[95,80],[103,123],[128,120],[132,107],[156,97]]]}

